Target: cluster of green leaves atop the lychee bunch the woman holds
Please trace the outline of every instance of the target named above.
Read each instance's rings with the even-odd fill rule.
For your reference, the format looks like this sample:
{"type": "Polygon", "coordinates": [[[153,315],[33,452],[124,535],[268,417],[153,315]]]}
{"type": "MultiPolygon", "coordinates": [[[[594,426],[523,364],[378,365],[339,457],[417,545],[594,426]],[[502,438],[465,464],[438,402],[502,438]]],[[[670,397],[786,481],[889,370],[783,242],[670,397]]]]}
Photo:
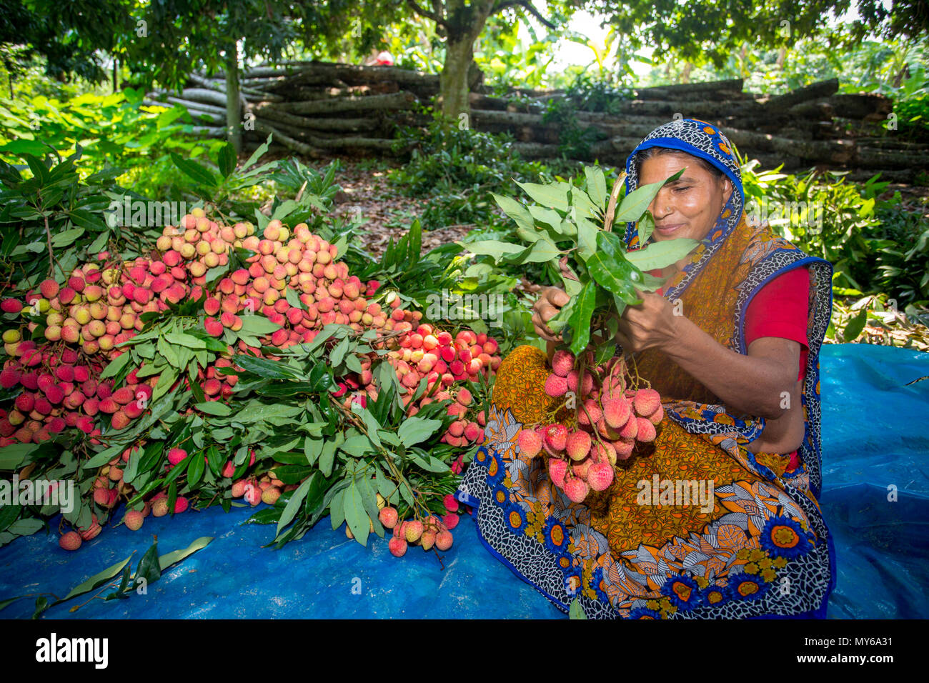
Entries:
{"type": "Polygon", "coordinates": [[[616,178],[608,195],[607,178],[597,166],[585,167],[582,176],[569,182],[517,182],[530,202],[497,194],[493,197],[516,222],[519,243],[484,240],[458,244],[472,254],[491,256],[498,264],[549,264],[554,272],[560,272],[571,299],[548,326],[562,335],[574,354],[591,344],[592,330],[608,332],[596,335],[601,339],[596,356],[612,355],[611,340],[623,310],[642,303],[635,290],[654,292],[665,283],[645,271],[665,268],[699,244],[690,239],[648,243],[655,228],[648,205],[665,183],[682,173],[683,169],[628,195],[624,194],[624,173],[616,178]],[[637,224],[639,243],[644,247],[628,251],[622,235],[611,230],[614,224],[623,226],[626,222],[637,224]]]}

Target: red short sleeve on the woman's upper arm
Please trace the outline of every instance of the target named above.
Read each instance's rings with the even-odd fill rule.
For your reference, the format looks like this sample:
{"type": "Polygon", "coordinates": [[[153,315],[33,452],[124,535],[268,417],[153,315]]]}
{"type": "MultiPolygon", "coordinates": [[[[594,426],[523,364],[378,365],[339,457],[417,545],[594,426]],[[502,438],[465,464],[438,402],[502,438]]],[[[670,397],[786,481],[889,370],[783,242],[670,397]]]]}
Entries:
{"type": "Polygon", "coordinates": [[[804,378],[809,355],[806,320],[809,315],[808,268],[795,268],[765,284],[745,311],[745,347],[762,336],[779,336],[800,344],[800,372],[804,378]]]}

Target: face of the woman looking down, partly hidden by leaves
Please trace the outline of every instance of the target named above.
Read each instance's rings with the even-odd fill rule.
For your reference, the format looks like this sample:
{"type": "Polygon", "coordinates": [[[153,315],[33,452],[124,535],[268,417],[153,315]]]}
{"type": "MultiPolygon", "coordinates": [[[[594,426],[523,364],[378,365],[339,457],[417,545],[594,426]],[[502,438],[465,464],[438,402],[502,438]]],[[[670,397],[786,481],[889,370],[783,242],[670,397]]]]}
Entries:
{"type": "Polygon", "coordinates": [[[732,194],[729,178],[717,180],[686,152],[647,159],[639,170],[639,187],[661,182],[685,167],[684,174],[662,187],[648,206],[655,217],[652,239],[656,242],[679,237],[702,240],[732,194]]]}

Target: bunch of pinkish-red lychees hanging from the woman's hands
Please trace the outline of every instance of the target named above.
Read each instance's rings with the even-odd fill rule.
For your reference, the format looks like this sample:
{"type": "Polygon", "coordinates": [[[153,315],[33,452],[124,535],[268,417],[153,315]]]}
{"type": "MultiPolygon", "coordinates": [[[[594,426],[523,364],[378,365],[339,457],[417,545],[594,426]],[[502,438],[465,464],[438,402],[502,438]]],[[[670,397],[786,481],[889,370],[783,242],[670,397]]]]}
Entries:
{"type": "MultiPolygon", "coordinates": [[[[592,361],[592,354],[584,360],[592,361]]],[[[637,442],[655,440],[664,409],[655,389],[629,387],[619,356],[594,366],[579,363],[567,350],[556,351],[545,393],[559,398],[569,392],[575,401],[575,409],[565,420],[569,424],[523,427],[518,446],[528,458],[544,453],[556,487],[571,501],[581,503],[610,487],[617,461],[628,459],[637,442]]]]}

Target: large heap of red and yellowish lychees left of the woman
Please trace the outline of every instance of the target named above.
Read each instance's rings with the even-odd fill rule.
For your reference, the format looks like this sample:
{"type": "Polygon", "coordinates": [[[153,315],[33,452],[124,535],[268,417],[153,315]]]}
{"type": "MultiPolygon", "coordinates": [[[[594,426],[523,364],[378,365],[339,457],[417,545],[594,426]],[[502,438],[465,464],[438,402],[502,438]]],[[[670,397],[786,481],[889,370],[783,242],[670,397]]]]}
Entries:
{"type": "MultiPolygon", "coordinates": [[[[25,302],[17,298],[0,301],[3,312],[24,318],[17,328],[3,333],[9,358],[0,371],[0,386],[22,390],[8,412],[0,409],[0,447],[18,441],[38,443],[67,427],[78,427],[97,445],[107,427],[99,418],[106,418],[115,430],[129,426],[148,409],[159,375],[139,378],[135,369],[122,387],[100,375],[109,362],[126,352],[119,345],[144,328],[142,314],[201,299],[203,328],[227,342],[234,341],[227,331],[241,330],[243,317],[251,314],[281,325],[274,333],[259,335],[261,344],[268,347],[310,342],[327,323],[347,324],[357,332],[373,329],[389,349],[386,358],[405,392],[401,400],[408,415],[430,402],[450,401],[448,414],[456,419],[441,440],[462,447],[484,439],[483,412],[477,412],[471,392],[455,383],[477,381],[480,375],[494,372],[501,362],[497,342],[470,330],[452,336],[423,323],[422,312],[402,309],[395,292],[378,296],[385,305],[382,309],[372,298],[380,283],[350,276],[347,264],[337,260],[335,245],[312,234],[306,224],[296,226],[292,236],[281,221],[272,220],[259,238],[251,223],[223,226],[206,217],[203,209],[194,209],[177,227],[164,228],[156,246],[158,251],[150,256],[124,263],[100,253],[97,263],[72,269],[63,283],[41,282],[26,293],[25,302]],[[230,251],[237,247],[255,251],[246,261],[248,268],[234,269],[207,283],[209,270],[227,266],[230,251]],[[292,305],[294,294],[288,297],[288,288],[294,290],[299,305],[292,305]],[[26,330],[32,340],[23,338],[26,330]],[[423,379],[426,390],[412,401],[423,379]]],[[[241,340],[237,347],[241,352],[275,358],[241,340]]],[[[229,370],[241,368],[231,359],[237,349],[227,348],[226,354],[199,370],[198,382],[207,400],[229,400],[234,394],[238,375],[229,370]]],[[[334,397],[344,397],[346,405],[352,401],[364,405],[368,398],[376,398],[372,363],[377,358],[374,352],[360,358],[361,372],[341,377],[334,397]]],[[[176,386],[181,382],[190,384],[186,375],[176,386]]],[[[106,513],[121,497],[135,494],[121,477],[129,451],[98,473],[91,494],[98,512],[106,513]]],[[[182,449],[172,449],[165,467],[178,466],[185,457],[182,449]]],[[[254,463],[253,454],[250,465],[254,463]]],[[[223,476],[231,478],[233,471],[227,464],[223,476]]],[[[292,486],[283,486],[271,475],[246,476],[232,482],[232,493],[252,505],[262,500],[273,505],[292,486]]],[[[128,511],[126,526],[140,526],[143,518],[138,514],[143,511],[148,514],[151,509],[159,516],[161,507],[156,509],[154,504],[162,498],[166,506],[162,492],[146,502],[143,510],[128,511]]],[[[178,497],[176,512],[188,504],[186,498],[178,497]]],[[[78,536],[88,540],[86,533],[96,535],[96,518],[94,524],[96,532],[92,524],[88,530],[79,530],[78,536]]],[[[433,531],[438,537],[443,530],[433,531]]]]}

